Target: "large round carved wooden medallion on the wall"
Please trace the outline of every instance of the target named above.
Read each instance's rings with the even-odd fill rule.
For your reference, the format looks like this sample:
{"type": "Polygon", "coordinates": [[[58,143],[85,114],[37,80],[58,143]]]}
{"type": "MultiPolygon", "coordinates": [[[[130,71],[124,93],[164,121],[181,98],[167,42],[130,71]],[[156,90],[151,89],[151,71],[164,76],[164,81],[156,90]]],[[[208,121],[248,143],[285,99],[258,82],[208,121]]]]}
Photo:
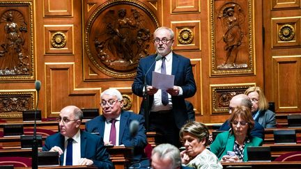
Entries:
{"type": "Polygon", "coordinates": [[[152,33],[159,23],[139,1],[107,1],[87,18],[85,55],[109,77],[134,77],[139,59],[155,51],[152,33]]]}

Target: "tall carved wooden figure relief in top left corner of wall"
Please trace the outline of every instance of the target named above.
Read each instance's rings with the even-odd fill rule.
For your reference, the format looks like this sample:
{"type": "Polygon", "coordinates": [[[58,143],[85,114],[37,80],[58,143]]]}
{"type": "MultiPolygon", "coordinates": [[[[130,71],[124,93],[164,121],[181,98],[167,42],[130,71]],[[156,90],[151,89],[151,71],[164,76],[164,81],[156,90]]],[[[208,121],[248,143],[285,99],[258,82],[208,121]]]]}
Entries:
{"type": "Polygon", "coordinates": [[[31,2],[0,2],[0,79],[32,79],[33,10],[31,2]]]}

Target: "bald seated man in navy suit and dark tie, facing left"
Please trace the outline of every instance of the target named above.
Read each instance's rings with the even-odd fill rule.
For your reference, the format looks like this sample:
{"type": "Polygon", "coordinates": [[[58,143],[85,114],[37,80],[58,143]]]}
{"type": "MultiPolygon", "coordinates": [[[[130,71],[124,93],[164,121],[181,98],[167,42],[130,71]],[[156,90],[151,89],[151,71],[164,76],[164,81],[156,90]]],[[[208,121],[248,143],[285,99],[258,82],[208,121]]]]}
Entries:
{"type": "Polygon", "coordinates": [[[82,118],[76,106],[63,108],[58,118],[60,132],[46,138],[43,151],[59,152],[61,166],[114,168],[100,136],[79,129],[82,118]]]}

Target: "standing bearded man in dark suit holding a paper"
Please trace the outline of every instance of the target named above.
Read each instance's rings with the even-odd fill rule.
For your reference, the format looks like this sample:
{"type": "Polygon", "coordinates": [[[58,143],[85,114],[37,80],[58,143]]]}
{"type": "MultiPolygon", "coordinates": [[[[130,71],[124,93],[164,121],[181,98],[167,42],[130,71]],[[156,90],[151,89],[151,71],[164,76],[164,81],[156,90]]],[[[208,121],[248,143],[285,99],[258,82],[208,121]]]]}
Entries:
{"type": "MultiPolygon", "coordinates": [[[[174,33],[167,27],[155,30],[154,45],[157,54],[141,58],[137,67],[137,77],[132,84],[135,95],[143,97],[144,77],[146,79],[146,92],[149,95],[149,131],[157,131],[164,136],[166,143],[180,146],[179,131],[187,122],[188,115],[185,98],[194,96],[196,84],[192,73],[192,65],[189,58],[173,53],[174,33]],[[152,65],[157,56],[162,59],[152,65]],[[150,73],[146,74],[150,70],[150,73]],[[160,90],[152,86],[152,71],[171,74],[175,76],[173,88],[160,90]]],[[[164,80],[164,79],[162,79],[164,80]]],[[[140,114],[144,115],[144,106],[141,104],[140,114]]],[[[146,110],[146,111],[148,111],[146,110]]],[[[146,112],[148,113],[148,112],[146,112]]]]}

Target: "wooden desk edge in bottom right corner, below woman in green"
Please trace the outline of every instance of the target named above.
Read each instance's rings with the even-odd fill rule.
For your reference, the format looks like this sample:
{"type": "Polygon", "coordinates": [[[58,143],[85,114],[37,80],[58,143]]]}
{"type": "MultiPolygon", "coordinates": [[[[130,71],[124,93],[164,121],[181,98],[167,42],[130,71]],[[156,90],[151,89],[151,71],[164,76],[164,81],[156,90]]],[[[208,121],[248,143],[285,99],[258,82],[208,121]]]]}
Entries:
{"type": "Polygon", "coordinates": [[[245,163],[222,163],[223,168],[256,168],[256,169],[299,169],[301,168],[301,161],[288,162],[245,162],[245,163]]]}

